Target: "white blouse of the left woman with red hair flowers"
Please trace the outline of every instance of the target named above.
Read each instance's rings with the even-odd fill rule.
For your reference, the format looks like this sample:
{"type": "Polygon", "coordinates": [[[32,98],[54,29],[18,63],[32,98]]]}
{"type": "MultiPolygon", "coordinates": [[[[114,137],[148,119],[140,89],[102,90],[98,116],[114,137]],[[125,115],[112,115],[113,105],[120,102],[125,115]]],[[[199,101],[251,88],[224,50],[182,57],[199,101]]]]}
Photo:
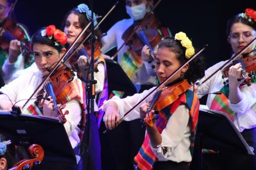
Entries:
{"type": "MultiPolygon", "coordinates": [[[[3,93],[7,94],[12,101],[15,103],[19,100],[29,99],[30,95],[34,92],[35,88],[41,83],[42,74],[40,71],[30,69],[29,71],[24,72],[23,75],[10,82],[8,85],[5,85],[0,89],[3,93]]],[[[33,96],[35,98],[36,95],[33,96]]],[[[0,95],[0,99],[7,99],[6,95],[0,95]]],[[[35,100],[30,100],[26,109],[30,104],[35,100]]],[[[26,100],[18,102],[16,105],[22,107],[26,103],[26,100]]],[[[75,148],[76,145],[80,142],[78,134],[80,129],[78,124],[81,120],[81,107],[79,102],[72,100],[66,104],[66,107],[62,109],[62,112],[66,110],[69,111],[69,114],[66,115],[67,122],[64,124],[64,127],[69,136],[72,148],[75,148]]]]}

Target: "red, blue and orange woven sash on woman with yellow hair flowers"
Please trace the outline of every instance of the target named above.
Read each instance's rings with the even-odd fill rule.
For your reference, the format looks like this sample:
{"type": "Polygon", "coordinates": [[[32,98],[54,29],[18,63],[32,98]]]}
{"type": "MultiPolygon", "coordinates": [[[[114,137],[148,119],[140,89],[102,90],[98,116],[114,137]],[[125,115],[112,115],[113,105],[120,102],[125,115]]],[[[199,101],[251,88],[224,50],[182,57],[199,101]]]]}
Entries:
{"type": "MultiPolygon", "coordinates": [[[[191,122],[191,135],[190,135],[190,153],[193,155],[194,144],[195,144],[195,135],[198,122],[198,113],[199,113],[199,100],[197,95],[191,91],[187,90],[183,93],[173,104],[167,106],[159,112],[159,118],[156,120],[156,127],[159,133],[162,133],[163,129],[166,127],[168,119],[178,106],[185,104],[189,109],[190,122],[191,122]]],[[[154,163],[158,160],[156,155],[153,153],[150,144],[148,134],[146,134],[144,142],[139,150],[139,153],[135,156],[134,160],[137,163],[137,169],[153,169],[154,163]]]]}

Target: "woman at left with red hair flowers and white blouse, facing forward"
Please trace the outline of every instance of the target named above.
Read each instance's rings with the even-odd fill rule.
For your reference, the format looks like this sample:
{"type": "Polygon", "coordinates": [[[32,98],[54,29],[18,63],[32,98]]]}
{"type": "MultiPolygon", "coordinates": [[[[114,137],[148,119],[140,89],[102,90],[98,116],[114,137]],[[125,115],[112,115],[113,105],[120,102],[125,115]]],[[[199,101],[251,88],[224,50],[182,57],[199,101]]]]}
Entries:
{"type": "MultiPolygon", "coordinates": [[[[12,104],[15,102],[17,102],[16,106],[20,107],[26,103],[26,100],[18,101],[30,98],[30,95],[41,83],[42,77],[49,74],[47,68],[52,68],[66,52],[66,48],[63,46],[66,42],[66,34],[53,27],[42,28],[33,35],[31,45],[38,70],[30,69],[30,71],[25,72],[25,74],[0,89],[11,100],[7,98],[7,95],[1,95],[0,109],[10,110],[12,104]]],[[[53,74],[56,74],[56,72],[53,74]]],[[[67,98],[60,101],[58,107],[63,113],[69,112],[65,116],[67,122],[64,124],[64,127],[69,136],[72,148],[79,157],[77,148],[79,147],[84,130],[84,85],[77,77],[74,77],[74,80],[68,83],[68,85],[71,87],[71,91],[67,95],[67,98]]],[[[32,98],[36,98],[37,95],[36,93],[32,98]]],[[[51,99],[51,96],[48,96],[48,98],[51,99]]],[[[37,100],[30,100],[24,106],[23,113],[57,117],[55,111],[53,111],[52,99],[45,101],[41,105],[39,105],[39,101],[37,100]],[[40,107],[41,105],[42,107],[40,107]]],[[[81,160],[79,161],[78,159],[77,162],[77,166],[80,167],[81,160]]]]}

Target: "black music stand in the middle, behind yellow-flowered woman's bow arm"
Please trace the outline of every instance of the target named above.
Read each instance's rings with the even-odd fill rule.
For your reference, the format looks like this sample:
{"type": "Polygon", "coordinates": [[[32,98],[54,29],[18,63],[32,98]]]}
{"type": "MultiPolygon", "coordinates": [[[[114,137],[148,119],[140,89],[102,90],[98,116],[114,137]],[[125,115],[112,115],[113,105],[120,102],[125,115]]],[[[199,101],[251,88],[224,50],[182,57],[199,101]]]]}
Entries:
{"type": "Polygon", "coordinates": [[[105,59],[108,73],[109,93],[113,90],[124,91],[123,97],[133,95],[137,92],[136,87],[125,74],[122,67],[114,60],[105,59]]]}

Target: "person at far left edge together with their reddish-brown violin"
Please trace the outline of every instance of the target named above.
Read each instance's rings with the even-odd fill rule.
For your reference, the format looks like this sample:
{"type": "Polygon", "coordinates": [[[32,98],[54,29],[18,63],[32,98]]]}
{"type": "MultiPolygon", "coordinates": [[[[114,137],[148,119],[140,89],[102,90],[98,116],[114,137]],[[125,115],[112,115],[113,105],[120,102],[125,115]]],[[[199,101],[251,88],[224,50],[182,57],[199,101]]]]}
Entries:
{"type": "Polygon", "coordinates": [[[7,18],[13,6],[13,0],[0,1],[0,67],[6,84],[17,70],[27,68],[34,62],[33,55],[25,53],[26,45],[21,42],[28,43],[30,40],[26,27],[7,18]]]}

